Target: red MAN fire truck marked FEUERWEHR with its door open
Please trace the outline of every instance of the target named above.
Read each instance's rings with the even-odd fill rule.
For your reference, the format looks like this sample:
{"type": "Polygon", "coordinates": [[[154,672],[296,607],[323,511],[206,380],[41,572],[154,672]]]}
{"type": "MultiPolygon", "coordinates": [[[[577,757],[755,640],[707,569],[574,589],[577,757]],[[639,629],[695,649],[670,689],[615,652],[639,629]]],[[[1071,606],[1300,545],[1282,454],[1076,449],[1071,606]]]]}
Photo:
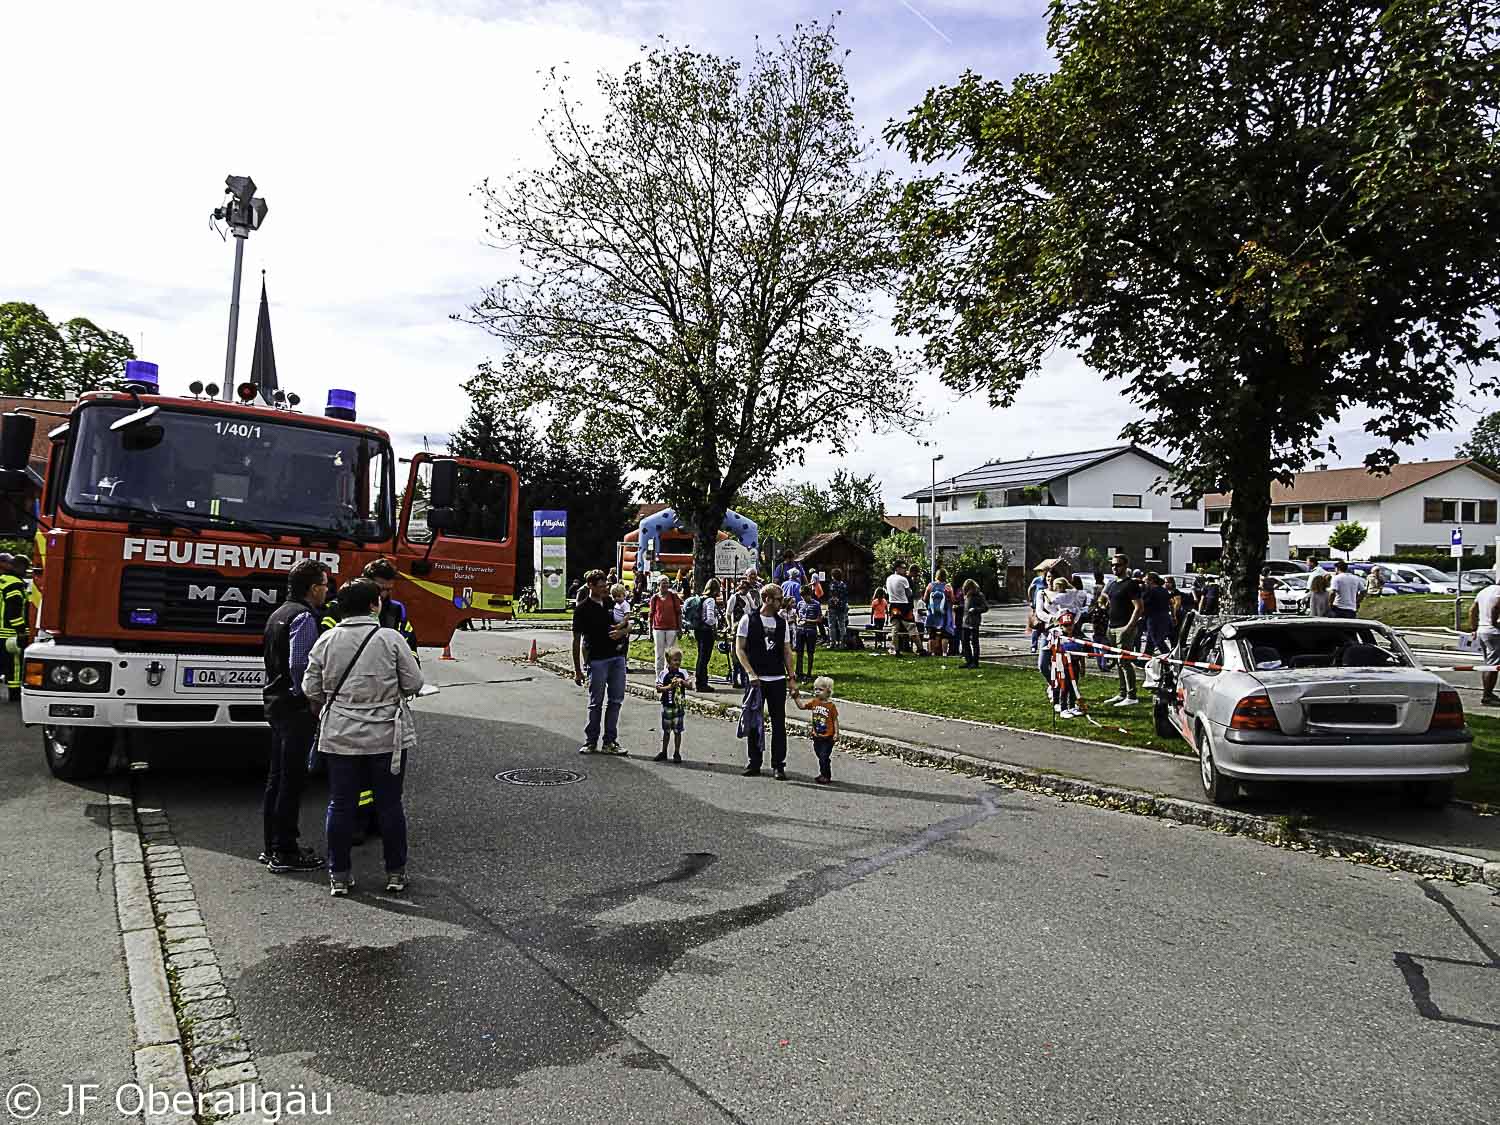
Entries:
{"type": "MultiPolygon", "coordinates": [[[[130,387],[81,396],[50,434],[21,712],[58,777],[104,771],[122,732],[262,728],[261,638],[303,558],[339,582],[390,558],[420,645],[512,615],[508,465],[418,453],[398,494],[390,438],[350,392],[318,417],[254,384],[238,402],[130,387]]],[[[0,420],[0,483],[24,480],[33,432],[0,420]]]]}

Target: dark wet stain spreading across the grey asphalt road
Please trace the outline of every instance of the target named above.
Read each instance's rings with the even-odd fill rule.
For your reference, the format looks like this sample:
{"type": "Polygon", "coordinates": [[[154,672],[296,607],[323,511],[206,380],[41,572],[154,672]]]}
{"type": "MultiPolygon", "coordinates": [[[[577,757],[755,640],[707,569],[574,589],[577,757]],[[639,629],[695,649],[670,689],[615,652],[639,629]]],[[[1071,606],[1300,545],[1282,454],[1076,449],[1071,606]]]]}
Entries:
{"type": "Polygon", "coordinates": [[[579,1065],[616,1048],[624,1066],[662,1070],[734,1113],[624,1026],[669,972],[716,972],[700,946],[762,926],[930,848],[1000,812],[993,792],[958,816],[876,855],[796,876],[758,902],[688,918],[598,922],[600,914],[680,885],[717,856],[690,852],[666,874],[564,902],[501,924],[460,890],[436,890],[434,914],[470,928],[390,946],[303,938],[240,974],[236,993],[258,1053],[310,1056],[321,1074],[382,1094],[514,1086],[540,1066],[579,1065]],[[452,909],[440,904],[446,898],[452,909]]]}

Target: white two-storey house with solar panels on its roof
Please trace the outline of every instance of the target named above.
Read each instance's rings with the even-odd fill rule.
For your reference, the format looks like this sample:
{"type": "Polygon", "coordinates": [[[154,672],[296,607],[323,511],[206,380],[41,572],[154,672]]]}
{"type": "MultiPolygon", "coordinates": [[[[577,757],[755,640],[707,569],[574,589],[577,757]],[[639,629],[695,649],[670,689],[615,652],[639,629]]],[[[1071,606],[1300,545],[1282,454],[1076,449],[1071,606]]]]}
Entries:
{"type": "MultiPolygon", "coordinates": [[[[992,460],[936,486],[909,492],[926,536],[936,518],[938,552],[975,543],[1004,549],[1006,586],[1020,596],[1032,570],[1065,560],[1074,570],[1125,554],[1142,570],[1182,574],[1222,552],[1203,504],[1167,490],[1172,464],[1137,446],[992,460]]],[[[1270,558],[1287,558],[1287,534],[1272,534],[1270,558]]]]}

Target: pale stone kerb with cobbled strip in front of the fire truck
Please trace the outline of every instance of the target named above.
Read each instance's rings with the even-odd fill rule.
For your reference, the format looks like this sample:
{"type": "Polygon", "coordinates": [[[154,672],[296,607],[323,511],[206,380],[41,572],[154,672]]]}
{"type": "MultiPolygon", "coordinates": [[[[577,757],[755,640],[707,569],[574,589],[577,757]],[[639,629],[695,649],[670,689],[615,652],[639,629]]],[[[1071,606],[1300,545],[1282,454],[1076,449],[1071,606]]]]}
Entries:
{"type": "Polygon", "coordinates": [[[166,814],[111,792],[110,838],[136,1082],[171,1096],[186,1092],[202,1110],[147,1112],[147,1125],[214,1120],[225,1116],[213,1112],[216,1102],[254,1104],[260,1070],[166,814]]]}

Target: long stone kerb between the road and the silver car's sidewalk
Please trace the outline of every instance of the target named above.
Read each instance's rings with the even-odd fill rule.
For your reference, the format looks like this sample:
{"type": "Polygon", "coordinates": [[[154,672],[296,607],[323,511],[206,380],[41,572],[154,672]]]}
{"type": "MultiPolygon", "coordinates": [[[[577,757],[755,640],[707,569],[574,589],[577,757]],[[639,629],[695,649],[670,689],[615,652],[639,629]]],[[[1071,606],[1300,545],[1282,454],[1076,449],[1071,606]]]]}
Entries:
{"type": "MultiPolygon", "coordinates": [[[[538,660],[537,666],[558,676],[573,678],[572,668],[564,668],[546,658],[538,660]]],[[[626,692],[644,699],[657,698],[654,690],[639,684],[626,684],[626,692]]],[[[738,706],[734,704],[710,702],[693,696],[687,698],[687,708],[696,714],[716,718],[734,718],[738,714],[738,706]]],[[[807,723],[788,717],[786,729],[788,734],[795,732],[802,735],[807,734],[808,728],[807,723]]],[[[1046,732],[1029,730],[1026,734],[1046,732]]],[[[1412,872],[1413,874],[1452,879],[1455,882],[1478,882],[1500,888],[1500,862],[1486,861],[1478,855],[1466,855],[1464,852],[1449,852],[1438,848],[1402,843],[1400,840],[1316,828],[1294,816],[1263,816],[1239,808],[1221,808],[1176,796],[1150,794],[1142,789],[1126,789],[1124,786],[1090,782],[1083,777],[1052,774],[1008,762],[994,762],[988,758],[976,758],[958,750],[942,750],[939,747],[903,742],[878,735],[840,734],[837,746],[843,750],[866,750],[916,765],[954,770],[972,777],[1000,782],[1012,789],[1024,789],[1062,801],[1092,804],[1137,816],[1155,816],[1179,824],[1198,825],[1216,832],[1244,836],[1276,848],[1317,852],[1318,855],[1348,860],[1350,862],[1372,864],[1412,872]]],[[[1131,747],[1112,746],[1112,748],[1132,753],[1131,747]]]]}

